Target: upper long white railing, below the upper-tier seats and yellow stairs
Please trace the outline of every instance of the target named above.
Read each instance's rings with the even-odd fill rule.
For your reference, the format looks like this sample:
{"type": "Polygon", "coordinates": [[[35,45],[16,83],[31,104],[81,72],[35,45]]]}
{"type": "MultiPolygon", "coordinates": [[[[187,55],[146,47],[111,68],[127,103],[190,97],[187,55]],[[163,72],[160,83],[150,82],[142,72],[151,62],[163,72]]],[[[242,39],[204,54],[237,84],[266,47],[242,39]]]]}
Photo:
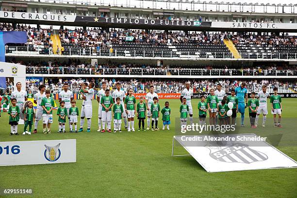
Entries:
{"type": "MultiPolygon", "coordinates": [[[[6,55],[40,55],[40,56],[92,56],[92,57],[147,57],[147,58],[192,58],[192,59],[232,59],[231,52],[221,51],[174,51],[174,50],[125,50],[92,49],[92,48],[65,48],[63,54],[53,54],[49,48],[9,46],[6,55]]],[[[281,52],[240,52],[242,59],[297,59],[297,53],[281,52]]]]}

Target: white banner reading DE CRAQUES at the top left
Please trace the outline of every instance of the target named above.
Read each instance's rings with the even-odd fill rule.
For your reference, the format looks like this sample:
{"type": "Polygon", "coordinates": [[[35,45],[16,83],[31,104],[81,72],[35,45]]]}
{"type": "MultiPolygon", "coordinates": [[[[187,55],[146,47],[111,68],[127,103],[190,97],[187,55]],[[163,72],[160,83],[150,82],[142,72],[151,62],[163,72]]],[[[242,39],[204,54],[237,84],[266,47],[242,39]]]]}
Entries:
{"type": "Polygon", "coordinates": [[[0,11],[0,18],[74,22],[76,16],[0,11]]]}

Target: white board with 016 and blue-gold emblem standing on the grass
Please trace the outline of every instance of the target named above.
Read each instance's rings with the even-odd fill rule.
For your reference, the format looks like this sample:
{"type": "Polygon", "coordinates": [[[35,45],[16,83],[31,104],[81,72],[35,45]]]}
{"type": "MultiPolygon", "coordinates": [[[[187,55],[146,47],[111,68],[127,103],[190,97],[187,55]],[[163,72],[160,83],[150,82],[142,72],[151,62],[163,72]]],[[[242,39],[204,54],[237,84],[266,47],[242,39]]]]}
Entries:
{"type": "Polygon", "coordinates": [[[0,142],[0,166],[76,162],[76,139],[0,142]]]}

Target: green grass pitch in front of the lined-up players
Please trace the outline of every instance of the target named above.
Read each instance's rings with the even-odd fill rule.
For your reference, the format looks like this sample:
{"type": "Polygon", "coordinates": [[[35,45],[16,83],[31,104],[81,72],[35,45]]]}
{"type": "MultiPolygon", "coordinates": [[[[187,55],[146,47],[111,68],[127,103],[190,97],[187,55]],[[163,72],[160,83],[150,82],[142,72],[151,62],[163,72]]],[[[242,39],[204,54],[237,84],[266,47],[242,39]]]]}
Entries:
{"type": "MultiPolygon", "coordinates": [[[[127,132],[122,129],[122,133],[97,132],[98,103],[95,100],[93,100],[91,132],[85,132],[85,122],[84,132],[69,133],[66,125],[66,133],[58,134],[55,115],[52,134],[42,133],[40,121],[37,134],[21,135],[23,125],[19,125],[20,135],[10,136],[7,113],[1,113],[0,141],[76,138],[77,162],[0,166],[0,188],[32,188],[33,195],[30,197],[36,198],[297,197],[296,168],[207,173],[191,156],[171,157],[175,117],[179,117],[180,101],[178,99],[168,101],[172,111],[170,131],[127,132]]],[[[192,100],[194,117],[198,117],[198,101],[199,99],[192,100]]],[[[161,108],[164,103],[165,100],[160,100],[161,108]]],[[[80,104],[81,101],[78,100],[79,109],[80,104]]],[[[270,104],[268,112],[268,116],[271,117],[270,104]]],[[[296,132],[296,128],[289,128],[285,124],[286,118],[297,120],[296,112],[296,99],[283,99],[284,127],[281,132],[296,132]]],[[[246,128],[242,130],[247,133],[255,132],[248,127],[247,115],[246,113],[246,128]]],[[[136,121],[135,129],[138,127],[137,124],[136,121]]],[[[260,124],[262,118],[259,119],[260,124]]],[[[122,127],[123,125],[122,123],[122,127]]],[[[272,125],[271,119],[268,119],[266,126],[272,125]]],[[[159,128],[162,128],[160,122],[159,128]]],[[[278,148],[297,160],[296,146],[278,148]]],[[[183,148],[178,148],[178,151],[183,152],[182,154],[186,152],[183,148]]]]}

